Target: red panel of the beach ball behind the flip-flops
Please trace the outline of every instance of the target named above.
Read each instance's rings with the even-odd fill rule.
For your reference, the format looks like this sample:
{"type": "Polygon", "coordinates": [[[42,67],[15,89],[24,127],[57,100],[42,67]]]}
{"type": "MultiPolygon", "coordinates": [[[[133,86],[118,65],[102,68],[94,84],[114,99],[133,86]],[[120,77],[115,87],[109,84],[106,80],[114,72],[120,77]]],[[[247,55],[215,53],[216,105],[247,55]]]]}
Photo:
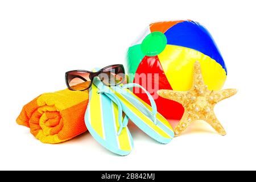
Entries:
{"type": "MultiPolygon", "coordinates": [[[[142,85],[152,95],[158,107],[158,112],[165,118],[181,119],[184,113],[183,106],[175,101],[160,97],[156,93],[159,89],[172,89],[163,72],[158,56],[145,56],[143,58],[136,71],[133,82],[142,85]]],[[[134,88],[134,93],[150,105],[147,95],[141,89],[134,88]]]]}

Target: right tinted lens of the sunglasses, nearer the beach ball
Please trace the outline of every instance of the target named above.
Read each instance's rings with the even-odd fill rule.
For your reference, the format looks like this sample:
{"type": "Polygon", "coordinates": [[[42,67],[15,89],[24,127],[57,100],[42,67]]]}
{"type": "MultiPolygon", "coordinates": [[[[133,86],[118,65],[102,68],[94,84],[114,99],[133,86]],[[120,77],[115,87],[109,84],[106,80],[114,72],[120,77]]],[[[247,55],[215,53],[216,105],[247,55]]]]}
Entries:
{"type": "Polygon", "coordinates": [[[113,65],[102,70],[99,77],[104,84],[114,86],[121,84],[125,80],[125,71],[122,65],[113,65]]]}

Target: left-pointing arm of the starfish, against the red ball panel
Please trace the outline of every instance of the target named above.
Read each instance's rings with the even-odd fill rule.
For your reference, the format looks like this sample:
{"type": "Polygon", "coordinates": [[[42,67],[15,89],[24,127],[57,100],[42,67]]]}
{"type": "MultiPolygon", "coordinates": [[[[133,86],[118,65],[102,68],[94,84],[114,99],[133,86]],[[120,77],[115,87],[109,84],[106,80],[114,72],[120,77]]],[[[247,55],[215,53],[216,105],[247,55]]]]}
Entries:
{"type": "Polygon", "coordinates": [[[169,100],[173,100],[173,101],[179,102],[180,104],[183,104],[183,99],[187,94],[187,92],[162,89],[162,90],[158,90],[158,94],[163,98],[167,98],[169,100]]]}

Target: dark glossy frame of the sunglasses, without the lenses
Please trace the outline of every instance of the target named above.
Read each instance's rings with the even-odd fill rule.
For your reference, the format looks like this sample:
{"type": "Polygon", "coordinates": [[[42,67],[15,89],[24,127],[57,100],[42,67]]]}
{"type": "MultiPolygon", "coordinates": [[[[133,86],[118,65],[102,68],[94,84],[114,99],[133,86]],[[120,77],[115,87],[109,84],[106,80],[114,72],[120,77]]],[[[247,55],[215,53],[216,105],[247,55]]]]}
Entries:
{"type": "MultiPolygon", "coordinates": [[[[90,71],[86,71],[86,70],[77,69],[77,70],[72,70],[72,71],[68,71],[68,72],[65,73],[65,82],[66,82],[66,85],[68,86],[68,89],[69,89],[69,90],[74,90],[74,89],[71,88],[71,86],[69,86],[69,83],[68,83],[68,74],[69,74],[70,72],[84,72],[84,73],[89,73],[89,74],[90,74],[90,75],[89,75],[89,77],[90,77],[90,85],[88,86],[88,88],[83,89],[83,90],[74,90],[74,91],[84,91],[84,90],[88,90],[88,89],[92,86],[92,84],[93,84],[93,79],[94,79],[94,77],[100,75],[101,73],[104,73],[104,71],[103,71],[104,69],[111,68],[111,67],[121,67],[121,68],[122,68],[122,71],[123,71],[123,74],[125,74],[125,68],[123,67],[122,64],[113,64],[113,65],[109,65],[109,66],[107,66],[107,67],[101,68],[101,69],[100,69],[99,71],[97,71],[97,72],[90,72],[90,71]]],[[[81,76],[79,76],[79,75],[77,75],[77,77],[81,78],[82,80],[85,79],[84,77],[81,77],[81,76]]],[[[87,80],[84,80],[84,81],[87,81],[87,80]]],[[[123,82],[123,81],[122,81],[122,82],[123,82]]],[[[111,85],[111,86],[119,85],[119,84],[121,84],[122,82],[119,82],[118,84],[111,85]]],[[[110,85],[105,84],[104,82],[103,82],[103,84],[106,85],[106,86],[110,86],[110,85]]]]}

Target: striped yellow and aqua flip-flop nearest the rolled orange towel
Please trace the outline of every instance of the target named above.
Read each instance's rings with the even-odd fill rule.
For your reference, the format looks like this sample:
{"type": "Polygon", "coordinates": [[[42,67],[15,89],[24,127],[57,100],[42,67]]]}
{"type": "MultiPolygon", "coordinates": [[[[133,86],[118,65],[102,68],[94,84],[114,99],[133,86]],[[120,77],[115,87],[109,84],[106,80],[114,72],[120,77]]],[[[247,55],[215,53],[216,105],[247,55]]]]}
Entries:
{"type": "Polygon", "coordinates": [[[112,100],[118,102],[115,96],[100,94],[96,85],[92,84],[85,125],[93,138],[106,149],[118,155],[128,155],[133,149],[133,138],[127,127],[128,118],[122,117],[119,102],[115,104],[112,100]]]}

